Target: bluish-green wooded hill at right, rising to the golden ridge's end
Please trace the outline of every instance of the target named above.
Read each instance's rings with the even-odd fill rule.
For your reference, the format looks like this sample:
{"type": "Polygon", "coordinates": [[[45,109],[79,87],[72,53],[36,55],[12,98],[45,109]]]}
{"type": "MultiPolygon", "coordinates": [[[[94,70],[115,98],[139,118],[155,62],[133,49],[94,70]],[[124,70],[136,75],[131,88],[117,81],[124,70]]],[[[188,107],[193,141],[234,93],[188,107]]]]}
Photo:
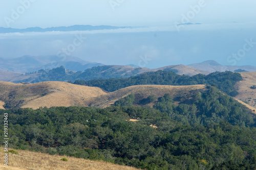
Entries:
{"type": "MultiPolygon", "coordinates": [[[[244,105],[228,95],[219,92],[215,87],[195,95],[193,104],[180,103],[178,106],[166,95],[159,98],[154,108],[167,113],[170,118],[184,124],[210,124],[228,121],[239,126],[256,126],[256,115],[251,113],[244,105]]],[[[184,101],[186,102],[186,101],[184,101]]]]}

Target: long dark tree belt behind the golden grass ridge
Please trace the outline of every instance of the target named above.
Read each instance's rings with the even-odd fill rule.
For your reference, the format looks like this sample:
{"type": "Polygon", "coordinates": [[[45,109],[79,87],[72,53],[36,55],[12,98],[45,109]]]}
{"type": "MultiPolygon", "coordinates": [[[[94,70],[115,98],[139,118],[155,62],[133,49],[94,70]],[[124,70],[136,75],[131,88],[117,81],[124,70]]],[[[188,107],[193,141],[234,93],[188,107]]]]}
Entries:
{"type": "Polygon", "coordinates": [[[209,75],[198,74],[195,76],[178,75],[172,71],[157,71],[143,73],[138,76],[129,78],[110,78],[97,79],[90,81],[76,81],[76,84],[100,87],[106,91],[113,92],[125,87],[141,85],[141,84],[161,84],[161,85],[194,85],[194,84],[208,84],[213,85],[221,91],[230,94],[234,90],[234,84],[241,81],[242,76],[239,73],[215,72],[209,75]]]}

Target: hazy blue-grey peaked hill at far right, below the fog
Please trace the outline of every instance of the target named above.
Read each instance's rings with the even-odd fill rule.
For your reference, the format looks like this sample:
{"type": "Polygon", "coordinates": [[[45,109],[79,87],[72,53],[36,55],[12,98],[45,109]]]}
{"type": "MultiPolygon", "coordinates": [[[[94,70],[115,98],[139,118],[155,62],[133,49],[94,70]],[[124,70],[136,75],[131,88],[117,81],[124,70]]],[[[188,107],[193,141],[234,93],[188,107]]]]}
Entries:
{"type": "Polygon", "coordinates": [[[216,72],[216,71],[235,71],[235,70],[245,70],[248,72],[256,71],[256,67],[254,66],[222,66],[220,63],[215,60],[207,60],[204,62],[193,63],[191,65],[187,65],[189,67],[193,67],[200,70],[205,70],[208,72],[216,72]]]}

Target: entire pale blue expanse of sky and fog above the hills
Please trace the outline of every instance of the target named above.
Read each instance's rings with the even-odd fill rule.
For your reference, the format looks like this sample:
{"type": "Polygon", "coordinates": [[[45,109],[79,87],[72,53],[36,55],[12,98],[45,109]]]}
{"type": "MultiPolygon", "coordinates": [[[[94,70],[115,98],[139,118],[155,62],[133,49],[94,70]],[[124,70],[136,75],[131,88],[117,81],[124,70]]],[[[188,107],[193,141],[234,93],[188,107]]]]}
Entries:
{"type": "Polygon", "coordinates": [[[0,34],[0,57],[56,55],[83,36],[70,55],[105,65],[143,61],[142,67],[159,68],[213,59],[256,66],[255,9],[255,0],[0,0],[0,27],[5,28],[143,27],[0,34]]]}

